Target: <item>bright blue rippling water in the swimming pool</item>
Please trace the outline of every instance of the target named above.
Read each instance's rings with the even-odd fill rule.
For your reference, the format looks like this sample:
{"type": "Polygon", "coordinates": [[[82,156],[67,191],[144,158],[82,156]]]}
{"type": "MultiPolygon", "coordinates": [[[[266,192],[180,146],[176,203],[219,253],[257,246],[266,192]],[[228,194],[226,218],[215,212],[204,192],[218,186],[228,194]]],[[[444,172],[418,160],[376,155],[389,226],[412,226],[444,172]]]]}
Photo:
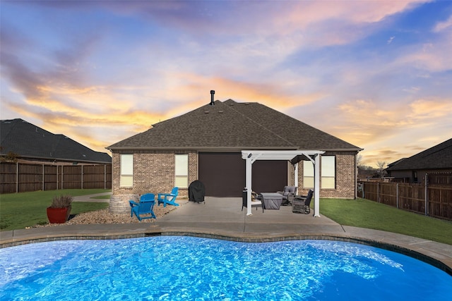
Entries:
{"type": "Polygon", "coordinates": [[[330,240],[160,236],[0,250],[0,300],[452,300],[452,276],[330,240]]]}

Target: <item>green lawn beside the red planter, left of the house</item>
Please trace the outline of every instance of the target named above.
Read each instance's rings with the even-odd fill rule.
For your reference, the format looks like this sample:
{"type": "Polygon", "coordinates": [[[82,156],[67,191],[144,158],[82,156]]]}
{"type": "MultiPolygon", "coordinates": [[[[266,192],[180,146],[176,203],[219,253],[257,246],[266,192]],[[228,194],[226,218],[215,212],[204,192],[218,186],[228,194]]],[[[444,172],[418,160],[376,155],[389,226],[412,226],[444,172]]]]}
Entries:
{"type": "MultiPolygon", "coordinates": [[[[105,189],[65,189],[36,192],[20,192],[0,195],[0,230],[16,230],[25,227],[49,223],[47,207],[57,195],[91,195],[109,192],[105,189]]],[[[102,197],[102,198],[109,198],[102,197]]],[[[71,215],[100,210],[108,207],[108,203],[72,202],[71,215]]]]}

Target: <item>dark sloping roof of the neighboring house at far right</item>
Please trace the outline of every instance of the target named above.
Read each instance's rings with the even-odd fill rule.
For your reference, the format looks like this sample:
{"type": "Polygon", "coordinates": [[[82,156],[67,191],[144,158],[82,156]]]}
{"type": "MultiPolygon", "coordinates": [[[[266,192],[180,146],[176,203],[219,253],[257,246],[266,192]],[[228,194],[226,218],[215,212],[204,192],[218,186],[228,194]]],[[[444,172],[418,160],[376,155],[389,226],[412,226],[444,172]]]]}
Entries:
{"type": "Polygon", "coordinates": [[[386,168],[386,171],[407,171],[419,169],[446,169],[452,168],[452,139],[435,145],[429,149],[400,159],[386,168]]]}

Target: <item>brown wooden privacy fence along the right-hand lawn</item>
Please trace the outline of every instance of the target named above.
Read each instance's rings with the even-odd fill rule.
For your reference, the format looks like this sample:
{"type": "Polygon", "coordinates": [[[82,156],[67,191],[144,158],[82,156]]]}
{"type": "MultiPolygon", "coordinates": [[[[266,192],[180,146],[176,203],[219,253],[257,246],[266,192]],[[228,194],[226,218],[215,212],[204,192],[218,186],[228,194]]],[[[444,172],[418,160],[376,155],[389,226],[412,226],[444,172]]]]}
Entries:
{"type": "Polygon", "coordinates": [[[429,185],[426,180],[425,183],[361,182],[359,186],[359,197],[452,220],[452,185],[429,185]]]}

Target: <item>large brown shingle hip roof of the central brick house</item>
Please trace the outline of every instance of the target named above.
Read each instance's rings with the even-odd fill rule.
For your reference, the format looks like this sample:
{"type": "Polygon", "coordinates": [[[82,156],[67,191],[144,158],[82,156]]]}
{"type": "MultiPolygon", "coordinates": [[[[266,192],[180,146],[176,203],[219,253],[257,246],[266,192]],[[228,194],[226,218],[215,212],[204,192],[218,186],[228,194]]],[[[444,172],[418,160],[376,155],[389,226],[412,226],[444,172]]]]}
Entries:
{"type": "Polygon", "coordinates": [[[107,149],[319,149],[359,147],[256,102],[215,101],[107,149]]]}

